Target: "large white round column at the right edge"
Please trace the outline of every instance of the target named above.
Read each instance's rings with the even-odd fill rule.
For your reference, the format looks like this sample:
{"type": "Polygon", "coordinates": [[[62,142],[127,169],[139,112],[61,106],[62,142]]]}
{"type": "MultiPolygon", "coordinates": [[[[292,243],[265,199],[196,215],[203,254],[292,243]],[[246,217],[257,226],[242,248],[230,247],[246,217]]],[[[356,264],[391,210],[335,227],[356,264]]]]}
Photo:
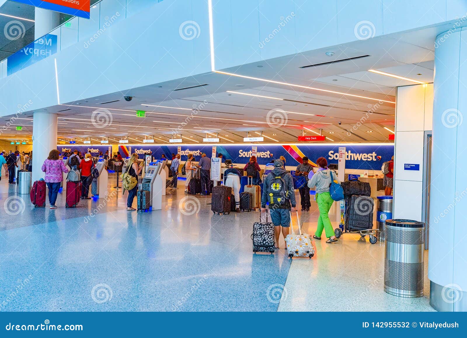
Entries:
{"type": "Polygon", "coordinates": [[[430,304],[467,310],[467,30],[435,43],[430,249],[430,304]]]}

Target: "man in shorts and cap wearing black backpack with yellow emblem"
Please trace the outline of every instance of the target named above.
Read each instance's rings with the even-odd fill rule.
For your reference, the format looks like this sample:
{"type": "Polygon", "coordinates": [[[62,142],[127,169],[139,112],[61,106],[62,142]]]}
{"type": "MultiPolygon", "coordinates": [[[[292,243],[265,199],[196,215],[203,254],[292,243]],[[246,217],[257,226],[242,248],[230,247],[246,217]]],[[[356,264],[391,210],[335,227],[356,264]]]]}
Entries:
{"type": "Polygon", "coordinates": [[[274,224],[275,249],[279,248],[281,226],[285,240],[289,234],[290,211],[297,211],[292,175],[283,169],[283,165],[284,162],[280,159],[274,161],[274,169],[264,179],[261,197],[262,212],[266,211],[266,203],[269,203],[269,212],[274,224]]]}

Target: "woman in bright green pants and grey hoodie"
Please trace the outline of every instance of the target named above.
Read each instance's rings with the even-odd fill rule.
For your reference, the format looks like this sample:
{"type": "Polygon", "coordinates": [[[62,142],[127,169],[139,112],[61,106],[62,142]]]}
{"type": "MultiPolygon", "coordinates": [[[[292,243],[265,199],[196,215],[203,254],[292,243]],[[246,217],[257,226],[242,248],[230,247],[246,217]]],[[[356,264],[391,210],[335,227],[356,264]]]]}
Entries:
{"type": "MultiPolygon", "coordinates": [[[[331,184],[331,169],[327,169],[327,161],[324,157],[318,158],[316,161],[318,164],[318,172],[316,174],[310,173],[308,178],[308,187],[316,187],[316,202],[318,202],[319,218],[318,218],[318,229],[316,229],[313,238],[321,239],[323,229],[326,232],[326,243],[337,242],[336,236],[334,236],[333,225],[329,220],[329,210],[333,205],[334,200],[329,194],[329,184],[331,184]]],[[[333,175],[334,180],[337,180],[337,175],[333,175]]]]}

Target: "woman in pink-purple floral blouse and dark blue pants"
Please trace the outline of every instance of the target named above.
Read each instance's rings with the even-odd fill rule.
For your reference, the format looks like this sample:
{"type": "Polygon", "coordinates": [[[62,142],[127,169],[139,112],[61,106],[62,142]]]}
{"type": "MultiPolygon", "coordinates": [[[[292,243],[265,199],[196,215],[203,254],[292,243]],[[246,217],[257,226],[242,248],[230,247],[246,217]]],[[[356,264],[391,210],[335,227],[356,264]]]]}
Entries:
{"type": "Polygon", "coordinates": [[[60,153],[57,149],[50,150],[49,157],[42,164],[42,171],[45,172],[45,183],[49,188],[50,209],[57,209],[55,202],[57,201],[58,190],[60,183],[63,181],[63,174],[67,173],[65,164],[59,159],[60,153]]]}

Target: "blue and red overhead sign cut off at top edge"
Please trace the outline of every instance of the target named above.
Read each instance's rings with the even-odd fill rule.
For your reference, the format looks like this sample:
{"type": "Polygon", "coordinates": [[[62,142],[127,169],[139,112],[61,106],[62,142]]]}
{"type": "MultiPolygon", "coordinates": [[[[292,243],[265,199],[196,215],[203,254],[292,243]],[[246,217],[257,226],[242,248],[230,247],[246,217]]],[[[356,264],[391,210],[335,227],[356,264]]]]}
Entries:
{"type": "Polygon", "coordinates": [[[89,11],[91,7],[90,0],[13,0],[22,4],[31,5],[50,9],[51,11],[60,12],[79,16],[80,18],[89,19],[89,11]]]}

